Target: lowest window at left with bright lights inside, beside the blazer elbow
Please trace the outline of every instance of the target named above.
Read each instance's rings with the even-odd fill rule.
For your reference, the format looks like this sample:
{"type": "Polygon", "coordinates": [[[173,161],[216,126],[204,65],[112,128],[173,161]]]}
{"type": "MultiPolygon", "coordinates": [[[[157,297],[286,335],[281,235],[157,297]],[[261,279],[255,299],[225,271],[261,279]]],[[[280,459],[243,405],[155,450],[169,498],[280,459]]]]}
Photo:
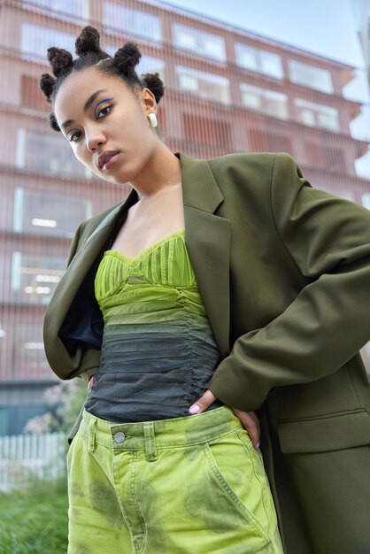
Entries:
{"type": "MultiPolygon", "coordinates": [[[[49,304],[60,278],[65,272],[66,258],[12,253],[12,298],[18,302],[49,304]]],[[[35,343],[36,344],[36,343],[35,343]]],[[[36,345],[28,350],[37,350],[36,345]]],[[[42,347],[43,349],[43,347],[42,347]]]]}

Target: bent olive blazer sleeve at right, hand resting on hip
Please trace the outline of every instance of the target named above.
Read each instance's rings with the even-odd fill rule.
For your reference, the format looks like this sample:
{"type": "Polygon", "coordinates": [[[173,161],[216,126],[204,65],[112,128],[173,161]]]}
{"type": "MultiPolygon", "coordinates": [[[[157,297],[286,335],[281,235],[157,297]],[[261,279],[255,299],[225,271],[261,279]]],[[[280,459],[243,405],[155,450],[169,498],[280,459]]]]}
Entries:
{"type": "Polygon", "coordinates": [[[370,212],[312,189],[287,154],[275,158],[270,200],[272,234],[310,281],[266,327],[240,336],[213,374],[213,394],[242,410],[274,387],[335,373],[370,339],[370,212]]]}

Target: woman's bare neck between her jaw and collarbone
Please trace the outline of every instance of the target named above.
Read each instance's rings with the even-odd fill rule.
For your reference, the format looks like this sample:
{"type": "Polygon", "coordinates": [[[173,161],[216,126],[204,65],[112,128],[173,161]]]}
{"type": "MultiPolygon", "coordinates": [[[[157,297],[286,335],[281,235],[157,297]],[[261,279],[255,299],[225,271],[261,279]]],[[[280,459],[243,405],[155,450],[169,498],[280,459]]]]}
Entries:
{"type": "Polygon", "coordinates": [[[141,173],[131,181],[140,200],[179,184],[180,160],[163,143],[151,154],[141,173]]]}

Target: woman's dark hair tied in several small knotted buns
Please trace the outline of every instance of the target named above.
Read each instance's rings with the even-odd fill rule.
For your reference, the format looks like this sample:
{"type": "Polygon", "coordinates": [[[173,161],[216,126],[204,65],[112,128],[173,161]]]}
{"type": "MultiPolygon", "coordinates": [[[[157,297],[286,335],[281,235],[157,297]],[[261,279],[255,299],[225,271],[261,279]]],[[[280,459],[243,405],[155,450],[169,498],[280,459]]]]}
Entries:
{"type": "MultiPolygon", "coordinates": [[[[84,27],[75,42],[75,50],[78,58],[73,60],[72,54],[62,48],[52,47],[48,49],[52,73],[42,73],[40,88],[51,104],[57,95],[58,88],[73,72],[82,71],[88,67],[96,66],[96,69],[106,75],[117,75],[133,91],[135,89],[149,88],[158,104],[164,95],[164,85],[159,73],[145,73],[141,76],[135,72],[142,57],[135,42],[126,42],[119,48],[113,58],[100,48],[100,35],[94,27],[84,27]]],[[[55,131],[60,131],[54,113],[50,113],[50,126],[55,131]]]]}

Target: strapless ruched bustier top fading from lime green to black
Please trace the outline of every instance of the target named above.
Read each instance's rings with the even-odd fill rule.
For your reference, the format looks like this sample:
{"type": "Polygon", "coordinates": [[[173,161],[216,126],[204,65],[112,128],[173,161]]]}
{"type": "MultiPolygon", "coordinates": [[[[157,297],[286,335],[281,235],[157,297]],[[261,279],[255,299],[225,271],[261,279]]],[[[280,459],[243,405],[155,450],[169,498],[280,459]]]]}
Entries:
{"type": "Polygon", "coordinates": [[[135,258],[107,250],[95,288],[104,336],[86,409],[117,422],[187,415],[208,386],[219,350],[184,231],[135,258]]]}

